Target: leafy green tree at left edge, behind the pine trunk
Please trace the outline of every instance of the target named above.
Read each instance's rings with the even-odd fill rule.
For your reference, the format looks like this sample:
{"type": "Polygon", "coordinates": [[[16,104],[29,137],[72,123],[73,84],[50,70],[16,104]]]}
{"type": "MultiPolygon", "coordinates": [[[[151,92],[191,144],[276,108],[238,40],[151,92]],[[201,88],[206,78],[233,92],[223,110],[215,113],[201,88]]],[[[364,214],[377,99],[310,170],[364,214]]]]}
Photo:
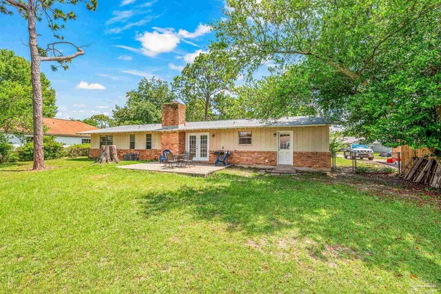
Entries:
{"type": "MultiPolygon", "coordinates": [[[[43,116],[54,117],[56,94],[44,74],[41,90],[43,116]]],[[[32,131],[30,62],[10,50],[0,50],[0,128],[15,134],[32,131]]]]}

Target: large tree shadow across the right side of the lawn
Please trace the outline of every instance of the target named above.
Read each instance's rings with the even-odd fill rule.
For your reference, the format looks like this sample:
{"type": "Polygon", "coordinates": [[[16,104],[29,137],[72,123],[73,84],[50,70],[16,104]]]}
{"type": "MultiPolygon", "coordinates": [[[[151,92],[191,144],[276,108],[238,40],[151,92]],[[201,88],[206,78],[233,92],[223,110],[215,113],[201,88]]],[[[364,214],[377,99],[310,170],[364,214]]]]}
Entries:
{"type": "Polygon", "coordinates": [[[189,185],[152,191],[142,200],[145,216],[190,211],[250,238],[300,232],[314,240],[311,258],[332,255],[362,260],[398,277],[409,271],[441,286],[441,229],[438,213],[400,201],[378,200],[346,185],[325,185],[305,177],[212,176],[189,185]]]}

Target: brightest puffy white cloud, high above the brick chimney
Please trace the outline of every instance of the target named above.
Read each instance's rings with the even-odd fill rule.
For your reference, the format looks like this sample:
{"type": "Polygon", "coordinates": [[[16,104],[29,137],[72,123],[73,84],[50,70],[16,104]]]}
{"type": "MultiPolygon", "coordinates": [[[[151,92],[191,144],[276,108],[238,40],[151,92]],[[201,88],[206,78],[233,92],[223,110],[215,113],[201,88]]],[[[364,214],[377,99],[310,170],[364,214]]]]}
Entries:
{"type": "Polygon", "coordinates": [[[136,40],[141,42],[141,51],[146,56],[156,56],[160,53],[172,52],[181,41],[172,30],[161,29],[161,32],[144,32],[136,36],[136,40]]]}

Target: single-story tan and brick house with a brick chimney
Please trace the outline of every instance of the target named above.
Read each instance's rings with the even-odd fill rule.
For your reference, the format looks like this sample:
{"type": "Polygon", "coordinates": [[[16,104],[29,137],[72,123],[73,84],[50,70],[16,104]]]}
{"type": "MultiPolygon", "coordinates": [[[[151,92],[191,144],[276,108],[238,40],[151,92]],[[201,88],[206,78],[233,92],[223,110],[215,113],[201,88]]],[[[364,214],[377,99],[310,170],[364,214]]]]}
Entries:
{"type": "Polygon", "coordinates": [[[139,152],[143,160],[158,159],[164,149],[175,154],[190,151],[195,160],[214,162],[215,151],[230,151],[234,165],[291,165],[331,169],[329,123],[304,116],[271,122],[255,119],[185,121],[185,105],[164,104],[162,123],[96,129],[90,134],[90,158],[99,156],[102,145],[116,145],[119,156],[139,152]]]}

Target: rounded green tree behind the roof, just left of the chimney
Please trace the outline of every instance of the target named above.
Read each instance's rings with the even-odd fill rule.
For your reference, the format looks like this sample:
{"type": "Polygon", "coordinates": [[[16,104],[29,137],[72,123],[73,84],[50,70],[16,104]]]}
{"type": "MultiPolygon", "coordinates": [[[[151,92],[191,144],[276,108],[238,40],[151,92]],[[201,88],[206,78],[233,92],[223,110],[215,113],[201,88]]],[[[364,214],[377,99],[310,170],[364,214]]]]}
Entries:
{"type": "Polygon", "coordinates": [[[160,78],[143,78],[138,89],[127,92],[127,102],[116,106],[113,117],[116,125],[161,123],[161,106],[174,99],[168,83],[160,78]]]}

